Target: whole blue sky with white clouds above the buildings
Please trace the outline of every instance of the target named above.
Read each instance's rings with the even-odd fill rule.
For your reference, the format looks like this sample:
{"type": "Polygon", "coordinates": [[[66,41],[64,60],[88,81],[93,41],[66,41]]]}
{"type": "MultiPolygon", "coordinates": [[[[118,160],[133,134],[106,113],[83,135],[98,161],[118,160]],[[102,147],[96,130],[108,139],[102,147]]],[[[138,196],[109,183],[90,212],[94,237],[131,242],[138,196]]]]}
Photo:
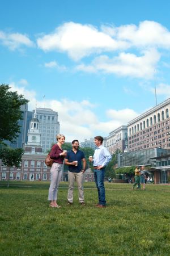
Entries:
{"type": "Polygon", "coordinates": [[[170,2],[1,0],[0,79],[66,140],[107,136],[170,96],[170,2]],[[45,97],[44,97],[45,95],[45,97]]]}

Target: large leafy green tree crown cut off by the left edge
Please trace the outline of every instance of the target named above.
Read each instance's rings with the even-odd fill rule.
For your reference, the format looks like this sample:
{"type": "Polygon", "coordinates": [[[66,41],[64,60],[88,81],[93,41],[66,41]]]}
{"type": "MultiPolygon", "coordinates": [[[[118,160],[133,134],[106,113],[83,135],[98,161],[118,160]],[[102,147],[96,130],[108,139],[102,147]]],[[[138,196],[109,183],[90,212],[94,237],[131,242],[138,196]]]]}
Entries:
{"type": "Polygon", "coordinates": [[[9,91],[8,85],[0,85],[0,144],[3,140],[14,141],[20,132],[19,120],[22,120],[20,106],[28,103],[17,91],[9,91]]]}

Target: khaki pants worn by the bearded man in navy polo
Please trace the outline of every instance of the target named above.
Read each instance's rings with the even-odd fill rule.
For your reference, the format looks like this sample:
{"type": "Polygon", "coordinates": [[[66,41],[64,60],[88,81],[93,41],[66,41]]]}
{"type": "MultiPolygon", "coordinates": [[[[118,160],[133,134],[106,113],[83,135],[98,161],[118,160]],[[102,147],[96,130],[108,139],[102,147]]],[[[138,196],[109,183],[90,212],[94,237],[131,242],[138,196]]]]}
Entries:
{"type": "Polygon", "coordinates": [[[79,190],[79,203],[84,202],[84,191],[83,191],[83,177],[84,174],[81,171],[80,173],[71,173],[71,171],[68,171],[69,175],[69,190],[68,190],[68,202],[73,203],[73,188],[74,188],[74,182],[78,184],[78,190],[79,190]]]}

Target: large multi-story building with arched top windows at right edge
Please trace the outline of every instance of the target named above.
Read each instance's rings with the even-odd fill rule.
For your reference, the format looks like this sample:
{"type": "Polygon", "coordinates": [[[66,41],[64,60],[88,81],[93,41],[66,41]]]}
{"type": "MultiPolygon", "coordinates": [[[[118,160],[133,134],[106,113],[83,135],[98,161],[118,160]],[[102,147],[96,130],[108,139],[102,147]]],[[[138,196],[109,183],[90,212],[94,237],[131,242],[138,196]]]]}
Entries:
{"type": "Polygon", "coordinates": [[[170,98],[128,123],[128,148],[170,149],[170,98]]]}

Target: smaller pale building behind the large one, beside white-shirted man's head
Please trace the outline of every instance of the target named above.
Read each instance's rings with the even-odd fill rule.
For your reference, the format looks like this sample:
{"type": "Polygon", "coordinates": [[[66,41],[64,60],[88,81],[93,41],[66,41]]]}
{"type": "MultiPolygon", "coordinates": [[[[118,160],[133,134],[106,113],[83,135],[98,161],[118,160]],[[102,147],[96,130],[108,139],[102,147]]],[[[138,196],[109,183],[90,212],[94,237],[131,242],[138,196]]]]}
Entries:
{"type": "Polygon", "coordinates": [[[105,146],[111,154],[114,154],[116,150],[124,152],[128,146],[128,128],[126,125],[122,125],[114,131],[109,133],[109,136],[105,137],[105,146]]]}

